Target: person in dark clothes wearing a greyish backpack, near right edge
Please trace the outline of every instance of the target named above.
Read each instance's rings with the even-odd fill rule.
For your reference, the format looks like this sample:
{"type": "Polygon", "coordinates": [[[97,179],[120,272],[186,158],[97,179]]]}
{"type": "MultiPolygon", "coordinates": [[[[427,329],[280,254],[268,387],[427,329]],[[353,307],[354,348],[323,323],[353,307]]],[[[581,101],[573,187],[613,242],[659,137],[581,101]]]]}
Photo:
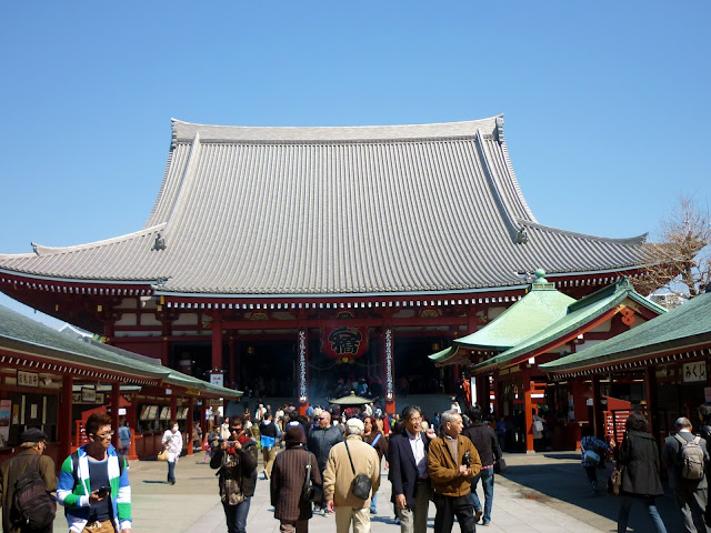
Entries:
{"type": "Polygon", "coordinates": [[[664,441],[662,464],[670,470],[669,484],[674,491],[674,499],[681,510],[685,531],[709,532],[711,529],[704,523],[709,486],[707,476],[703,473],[705,464],[709,462],[707,441],[691,433],[691,422],[684,416],[677,419],[674,426],[677,433],[669,435],[664,441]],[[684,444],[694,442],[703,451],[701,479],[694,480],[684,475],[681,461],[682,442],[684,444]]]}

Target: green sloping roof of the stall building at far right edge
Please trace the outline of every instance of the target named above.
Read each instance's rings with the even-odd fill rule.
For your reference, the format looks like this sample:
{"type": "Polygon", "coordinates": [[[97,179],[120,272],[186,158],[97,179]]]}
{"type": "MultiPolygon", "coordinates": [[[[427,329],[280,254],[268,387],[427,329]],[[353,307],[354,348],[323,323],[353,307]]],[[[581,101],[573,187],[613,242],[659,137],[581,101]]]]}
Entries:
{"type": "Polygon", "coordinates": [[[613,361],[652,355],[662,351],[685,351],[711,343],[711,293],[701,294],[679,308],[618,336],[540,368],[548,372],[570,371],[613,361]]]}

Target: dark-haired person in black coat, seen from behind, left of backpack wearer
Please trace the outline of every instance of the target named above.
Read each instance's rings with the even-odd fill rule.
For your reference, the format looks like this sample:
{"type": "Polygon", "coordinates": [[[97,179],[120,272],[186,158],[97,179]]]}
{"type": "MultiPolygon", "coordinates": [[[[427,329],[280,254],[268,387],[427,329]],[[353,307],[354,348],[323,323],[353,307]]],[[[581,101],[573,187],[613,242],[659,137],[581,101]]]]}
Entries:
{"type": "Polygon", "coordinates": [[[659,446],[649,434],[647,418],[638,412],[627,419],[627,431],[622,444],[615,449],[615,459],[622,466],[622,486],[618,533],[627,531],[627,522],[632,503],[638,500],[647,506],[647,512],[657,533],[667,533],[654,499],[664,491],[659,477],[659,446]]]}

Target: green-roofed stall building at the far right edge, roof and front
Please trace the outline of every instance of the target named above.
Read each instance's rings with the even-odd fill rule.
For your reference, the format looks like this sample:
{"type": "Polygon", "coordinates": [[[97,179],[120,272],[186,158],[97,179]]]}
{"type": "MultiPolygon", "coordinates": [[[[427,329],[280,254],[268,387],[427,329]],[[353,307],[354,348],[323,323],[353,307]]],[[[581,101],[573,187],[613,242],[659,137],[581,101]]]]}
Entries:
{"type": "Polygon", "coordinates": [[[595,428],[621,439],[631,409],[649,418],[659,442],[673,431],[674,420],[687,416],[699,426],[697,408],[711,402],[711,285],[687,303],[589,350],[570,353],[541,365],[557,384],[582,382],[593,391],[609,389],[627,402],[603,411],[593,396],[595,428]],[[603,425],[603,428],[601,428],[603,425]]]}

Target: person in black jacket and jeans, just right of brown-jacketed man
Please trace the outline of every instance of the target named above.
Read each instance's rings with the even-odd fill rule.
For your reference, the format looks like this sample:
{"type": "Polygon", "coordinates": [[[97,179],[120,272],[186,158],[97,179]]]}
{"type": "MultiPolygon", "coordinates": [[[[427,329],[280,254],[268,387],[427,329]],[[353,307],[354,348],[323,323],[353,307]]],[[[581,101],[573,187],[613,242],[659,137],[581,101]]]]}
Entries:
{"type": "Polygon", "coordinates": [[[467,428],[462,435],[467,436],[479,452],[481,459],[481,472],[471,480],[471,497],[474,502],[474,522],[482,517],[482,524],[489,525],[491,522],[491,507],[493,505],[493,463],[501,459],[501,446],[499,439],[491,426],[482,420],[481,408],[473,405],[469,411],[472,424],[467,428]],[[484,491],[484,505],[477,495],[477,485],[481,480],[481,487],[484,491]]]}

